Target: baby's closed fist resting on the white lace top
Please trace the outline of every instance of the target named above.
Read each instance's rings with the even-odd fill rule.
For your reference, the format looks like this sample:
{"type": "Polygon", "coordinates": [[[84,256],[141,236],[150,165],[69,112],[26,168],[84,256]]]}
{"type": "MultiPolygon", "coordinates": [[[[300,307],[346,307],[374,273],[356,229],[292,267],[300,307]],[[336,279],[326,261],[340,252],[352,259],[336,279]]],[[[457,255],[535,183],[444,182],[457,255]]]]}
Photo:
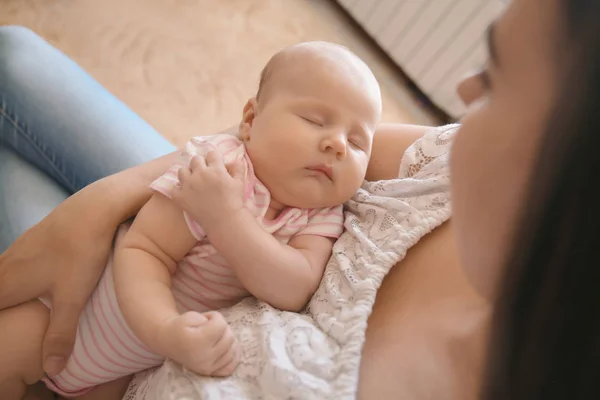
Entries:
{"type": "Polygon", "coordinates": [[[221,313],[189,311],[165,322],[160,335],[164,356],[199,375],[229,376],[239,348],[221,313]]]}

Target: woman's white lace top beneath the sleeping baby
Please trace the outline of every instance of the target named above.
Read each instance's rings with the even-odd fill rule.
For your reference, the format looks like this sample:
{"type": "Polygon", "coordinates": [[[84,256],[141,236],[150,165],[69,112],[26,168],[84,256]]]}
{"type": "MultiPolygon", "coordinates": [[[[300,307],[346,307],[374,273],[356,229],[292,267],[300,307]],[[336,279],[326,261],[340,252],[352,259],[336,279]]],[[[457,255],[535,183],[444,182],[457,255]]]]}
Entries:
{"type": "Polygon", "coordinates": [[[254,298],[223,312],[242,347],[233,376],[201,377],[167,361],[138,374],[125,399],[353,399],[377,289],[408,248],[450,217],[455,131],[432,129],[406,151],[398,179],[365,183],[348,202],[346,231],[304,313],[254,298]]]}

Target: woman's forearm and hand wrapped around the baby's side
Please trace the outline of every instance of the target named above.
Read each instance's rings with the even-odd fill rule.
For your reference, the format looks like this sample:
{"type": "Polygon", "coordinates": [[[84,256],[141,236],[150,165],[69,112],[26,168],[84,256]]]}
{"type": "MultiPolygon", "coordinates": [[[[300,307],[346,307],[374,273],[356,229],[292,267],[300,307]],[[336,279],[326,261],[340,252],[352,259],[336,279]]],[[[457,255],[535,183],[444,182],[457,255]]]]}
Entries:
{"type": "Polygon", "coordinates": [[[0,309],[52,300],[44,368],[58,373],[73,348],[79,314],[100,277],[115,229],[148,201],[172,153],[101,179],[60,204],[0,255],[0,309]]]}

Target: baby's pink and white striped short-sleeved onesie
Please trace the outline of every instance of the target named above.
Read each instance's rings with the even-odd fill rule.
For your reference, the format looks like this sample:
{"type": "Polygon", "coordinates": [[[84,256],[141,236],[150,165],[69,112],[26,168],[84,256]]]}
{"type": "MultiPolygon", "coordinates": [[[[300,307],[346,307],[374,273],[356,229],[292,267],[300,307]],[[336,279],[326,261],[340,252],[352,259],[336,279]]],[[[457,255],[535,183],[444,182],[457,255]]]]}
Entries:
{"type": "MultiPolygon", "coordinates": [[[[178,184],[177,171],[188,166],[194,155],[215,150],[226,163],[238,160],[246,167],[244,204],[258,223],[281,243],[295,235],[338,238],[343,230],[342,206],[325,209],[286,208],[272,221],[265,220],[271,196],[256,178],[243,143],[234,136],[200,136],[188,142],[178,162],[151,188],[170,197],[178,184]]],[[[201,199],[199,199],[201,201],[201,199]]],[[[184,213],[188,228],[198,242],[177,264],[172,277],[173,296],[180,311],[204,312],[230,307],[249,295],[248,291],[207,240],[202,227],[184,213]]],[[[127,228],[117,234],[117,240],[127,228]]],[[[44,301],[44,300],[42,300],[44,301]]],[[[47,301],[45,304],[50,305],[47,301]]],[[[80,396],[92,387],[162,364],[164,358],[152,353],[127,326],[115,295],[112,262],[88,301],[79,320],[75,348],[67,367],[59,375],[45,377],[46,385],[63,396],[80,396]]]]}

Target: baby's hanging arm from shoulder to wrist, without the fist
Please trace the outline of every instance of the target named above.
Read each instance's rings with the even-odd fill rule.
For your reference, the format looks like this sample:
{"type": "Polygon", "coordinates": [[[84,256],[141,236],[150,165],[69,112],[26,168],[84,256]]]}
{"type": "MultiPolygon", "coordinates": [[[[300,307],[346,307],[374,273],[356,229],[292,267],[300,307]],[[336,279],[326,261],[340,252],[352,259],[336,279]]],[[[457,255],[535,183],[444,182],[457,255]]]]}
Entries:
{"type": "Polygon", "coordinates": [[[195,243],[181,210],[154,194],[115,250],[113,273],[121,312],[137,337],[159,354],[164,355],[160,328],[179,315],[171,275],[195,243]]]}

